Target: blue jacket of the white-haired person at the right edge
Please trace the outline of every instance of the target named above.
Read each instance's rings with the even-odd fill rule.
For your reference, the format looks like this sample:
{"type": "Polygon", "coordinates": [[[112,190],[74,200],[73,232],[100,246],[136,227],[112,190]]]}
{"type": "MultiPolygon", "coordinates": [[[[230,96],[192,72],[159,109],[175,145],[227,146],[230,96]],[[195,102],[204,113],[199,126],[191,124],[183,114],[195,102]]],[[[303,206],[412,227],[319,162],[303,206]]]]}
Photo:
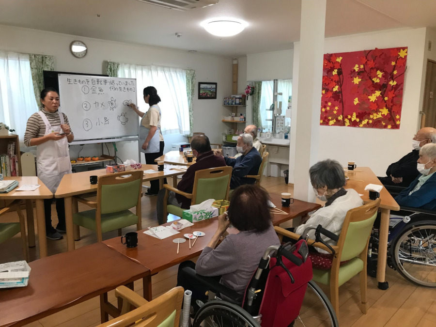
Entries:
{"type": "Polygon", "coordinates": [[[400,194],[395,197],[395,201],[401,206],[420,208],[426,210],[436,210],[436,173],[420,187],[419,190],[409,195],[409,192],[418,184],[421,174],[400,194]]]}

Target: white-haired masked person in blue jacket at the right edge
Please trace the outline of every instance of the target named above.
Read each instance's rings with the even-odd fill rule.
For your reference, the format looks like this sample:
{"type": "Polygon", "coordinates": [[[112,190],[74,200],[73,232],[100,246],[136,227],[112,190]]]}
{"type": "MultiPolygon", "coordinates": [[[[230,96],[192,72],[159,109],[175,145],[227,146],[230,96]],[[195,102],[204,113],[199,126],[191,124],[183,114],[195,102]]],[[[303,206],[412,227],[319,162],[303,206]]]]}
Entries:
{"type": "Polygon", "coordinates": [[[395,197],[395,201],[406,207],[436,210],[436,143],[420,148],[417,169],[420,175],[395,197]]]}

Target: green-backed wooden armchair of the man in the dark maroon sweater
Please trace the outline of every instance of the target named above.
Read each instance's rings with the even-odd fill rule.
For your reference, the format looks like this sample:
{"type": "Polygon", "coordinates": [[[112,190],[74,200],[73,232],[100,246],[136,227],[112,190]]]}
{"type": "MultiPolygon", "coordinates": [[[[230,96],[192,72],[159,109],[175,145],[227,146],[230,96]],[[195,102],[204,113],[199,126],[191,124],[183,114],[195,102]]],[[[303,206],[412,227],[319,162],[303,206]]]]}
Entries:
{"type": "Polygon", "coordinates": [[[164,184],[164,222],[167,221],[168,214],[182,217],[183,211],[186,210],[172,204],[165,205],[168,201],[169,191],[173,191],[191,199],[191,205],[201,203],[208,199],[228,200],[231,177],[232,167],[229,166],[196,171],[192,193],[182,192],[175,187],[164,184]]]}

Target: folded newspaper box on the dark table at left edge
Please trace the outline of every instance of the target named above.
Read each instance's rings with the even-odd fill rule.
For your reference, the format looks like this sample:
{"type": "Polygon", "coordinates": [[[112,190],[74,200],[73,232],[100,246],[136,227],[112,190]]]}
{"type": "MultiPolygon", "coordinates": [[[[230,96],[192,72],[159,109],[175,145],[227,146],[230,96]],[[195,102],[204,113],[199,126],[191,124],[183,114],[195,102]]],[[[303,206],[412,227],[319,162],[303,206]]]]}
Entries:
{"type": "Polygon", "coordinates": [[[0,288],[27,286],[30,272],[31,267],[24,260],[1,264],[0,288]]]}

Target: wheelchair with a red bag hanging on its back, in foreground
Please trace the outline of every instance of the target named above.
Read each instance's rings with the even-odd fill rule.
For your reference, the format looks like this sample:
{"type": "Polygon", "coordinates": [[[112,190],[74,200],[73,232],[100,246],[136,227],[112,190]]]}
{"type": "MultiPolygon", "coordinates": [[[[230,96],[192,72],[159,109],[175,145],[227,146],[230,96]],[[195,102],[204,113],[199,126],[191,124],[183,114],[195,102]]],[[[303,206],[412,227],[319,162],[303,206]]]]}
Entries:
{"type": "MultiPolygon", "coordinates": [[[[324,234],[322,228],[318,231],[324,234]]],[[[201,305],[192,326],[308,326],[305,321],[313,319],[312,315],[320,323],[322,320],[323,326],[339,326],[327,295],[311,280],[308,256],[304,239],[268,247],[243,296],[213,278],[197,275],[192,268],[184,268],[187,275],[209,289],[210,300],[201,305]]]]}

